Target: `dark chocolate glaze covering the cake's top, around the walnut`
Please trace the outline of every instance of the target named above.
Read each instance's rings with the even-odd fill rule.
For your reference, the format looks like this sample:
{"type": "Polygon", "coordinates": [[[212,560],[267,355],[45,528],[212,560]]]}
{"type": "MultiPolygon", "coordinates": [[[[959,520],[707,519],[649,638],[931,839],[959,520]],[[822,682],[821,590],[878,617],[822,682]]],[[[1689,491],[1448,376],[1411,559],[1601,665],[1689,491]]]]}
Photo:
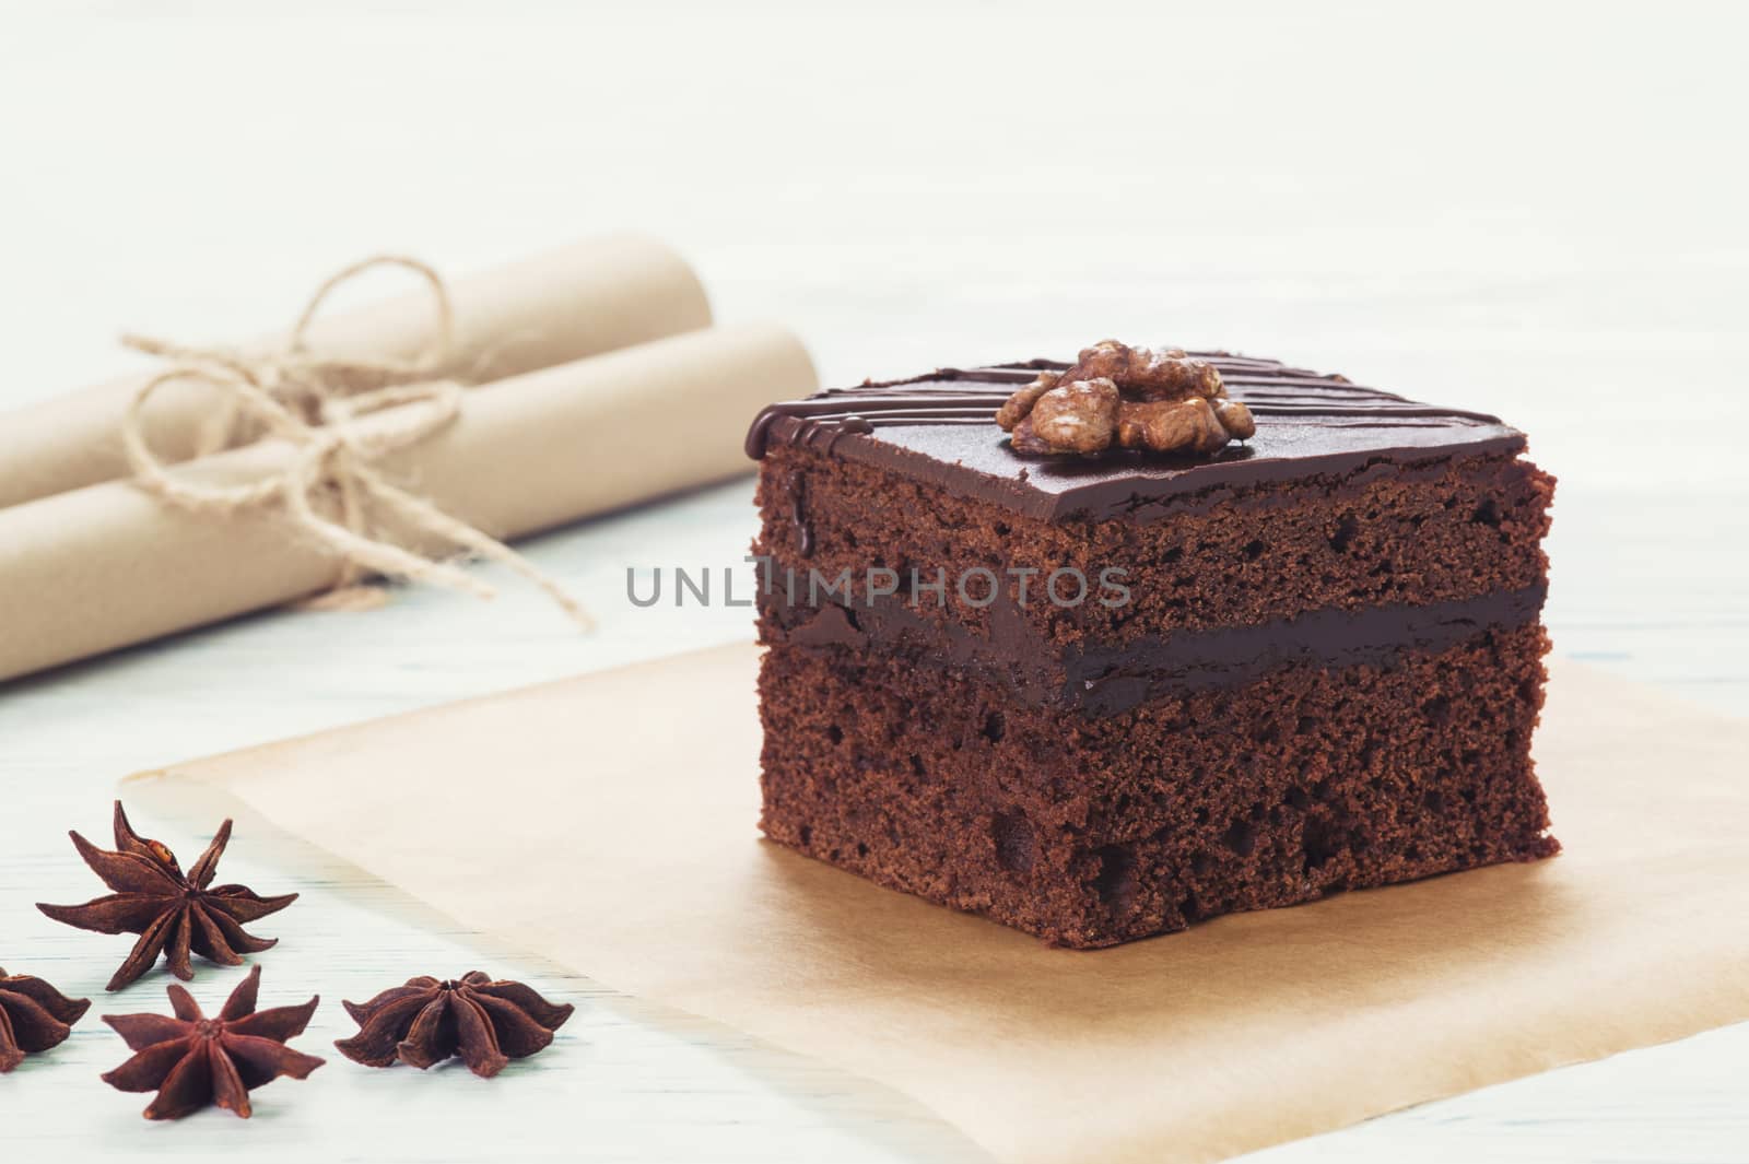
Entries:
{"type": "Polygon", "coordinates": [[[939,369],[913,379],[833,388],[766,407],[747,454],[773,444],[902,472],[1041,521],[1165,512],[1210,489],[1373,465],[1418,465],[1453,454],[1502,454],[1525,437],[1495,416],[1466,412],[1320,376],[1277,360],[1195,351],[1228,395],[1258,419],[1258,435],[1210,458],[1112,451],[1093,458],[1025,456],[1009,447],[995,411],[1056,360],[939,369]]]}

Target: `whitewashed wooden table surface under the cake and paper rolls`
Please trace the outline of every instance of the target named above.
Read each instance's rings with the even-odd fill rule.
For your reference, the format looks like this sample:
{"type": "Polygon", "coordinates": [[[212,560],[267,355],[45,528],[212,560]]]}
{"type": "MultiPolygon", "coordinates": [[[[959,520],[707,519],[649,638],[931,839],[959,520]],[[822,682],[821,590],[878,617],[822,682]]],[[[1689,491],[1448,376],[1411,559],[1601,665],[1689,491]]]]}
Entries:
{"type": "MultiPolygon", "coordinates": [[[[1557,650],[1749,713],[1749,404],[1730,371],[1749,238],[1740,150],[1714,145],[1746,86],[1723,7],[1656,26],[1593,5],[1438,24],[1077,5],[1069,26],[1030,5],[68,7],[0,42],[0,103],[35,110],[0,124],[0,405],[122,367],[122,327],[289,320],[362,253],[460,271],[638,225],[694,257],[721,318],[801,330],[827,381],[1118,334],[1499,411],[1562,477],[1557,650]]],[[[0,965],[98,1014],[163,998],[161,973],[101,998],[126,942],[31,909],[98,891],[65,828],[101,835],[129,771],[747,636],[740,610],[633,608],[624,570],[736,565],[749,493],[530,545],[602,615],[591,638],[511,582],[495,605],[266,615],[0,689],[0,965]]],[[[217,825],[136,823],[184,856],[217,825]]],[[[124,1049],[87,1019],[0,1080],[0,1157],[978,1159],[899,1096],[491,949],[247,821],[222,870],[304,895],[257,928],[283,940],[264,1001],[325,996],[306,1049],[350,1033],[341,996],[415,973],[484,967],[579,1014],[491,1084],[331,1056],[248,1124],[166,1127],[96,1082],[124,1049]]],[[[238,977],[203,967],[196,994],[238,977]]],[[[1740,1164],[1746,1061],[1732,1028],[1258,1159],[1740,1164]]]]}

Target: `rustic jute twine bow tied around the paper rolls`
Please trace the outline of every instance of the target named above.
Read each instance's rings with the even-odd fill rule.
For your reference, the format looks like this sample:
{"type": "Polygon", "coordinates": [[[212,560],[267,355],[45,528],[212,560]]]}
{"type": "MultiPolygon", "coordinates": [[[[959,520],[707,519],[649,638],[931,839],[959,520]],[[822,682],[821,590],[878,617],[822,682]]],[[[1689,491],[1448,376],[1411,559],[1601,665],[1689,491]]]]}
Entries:
{"type": "Polygon", "coordinates": [[[462,414],[462,383],[442,374],[455,365],[455,311],[442,278],[427,264],[401,255],[357,262],[327,280],[310,299],[283,348],[241,353],[227,348],[184,348],[124,336],[136,351],[171,360],[135,393],[122,421],[122,447],[135,481],[166,505],[213,517],[283,510],[290,523],[341,563],[332,591],[366,575],[436,582],[479,598],[497,591],[469,572],[429,552],[406,549],[383,528],[385,519],[422,544],[446,544],[509,566],[539,585],[584,629],[582,606],[547,573],[474,526],[444,514],[390,482],[373,461],[415,446],[462,414]],[[306,336],[324,301],[343,283],[373,267],[404,267],[432,290],[437,339],[411,360],[329,358],[310,351],[306,336]],[[145,439],[145,404],[171,383],[198,383],[220,393],[219,407],[196,433],[205,456],[240,440],[271,437],[294,447],[292,463],[247,484],[206,484],[173,474],[145,439]],[[360,425],[362,418],[390,418],[360,425]],[[241,430],[241,432],[240,432],[241,430]],[[332,516],[322,512],[334,510],[332,516]]]}

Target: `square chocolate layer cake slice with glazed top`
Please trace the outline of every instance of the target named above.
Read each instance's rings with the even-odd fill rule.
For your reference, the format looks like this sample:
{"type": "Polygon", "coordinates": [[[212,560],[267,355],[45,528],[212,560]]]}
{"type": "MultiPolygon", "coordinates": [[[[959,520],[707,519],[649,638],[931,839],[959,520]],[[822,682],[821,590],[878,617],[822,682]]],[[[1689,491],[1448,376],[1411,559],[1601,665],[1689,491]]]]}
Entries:
{"type": "Polygon", "coordinates": [[[771,841],[1072,947],[1558,849],[1523,433],[1175,355],[1244,426],[1135,447],[1119,379],[1004,432],[1049,360],[757,418],[771,841]]]}

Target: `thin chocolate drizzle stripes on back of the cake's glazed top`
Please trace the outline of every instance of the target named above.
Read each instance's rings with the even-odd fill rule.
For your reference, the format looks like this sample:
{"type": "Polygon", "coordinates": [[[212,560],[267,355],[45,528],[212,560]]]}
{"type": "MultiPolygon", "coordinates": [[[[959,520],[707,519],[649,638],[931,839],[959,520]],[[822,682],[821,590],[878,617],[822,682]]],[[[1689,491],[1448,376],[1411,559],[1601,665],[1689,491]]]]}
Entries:
{"type": "MultiPolygon", "coordinates": [[[[1415,404],[1378,388],[1319,376],[1275,360],[1235,357],[1224,351],[1193,351],[1221,371],[1235,400],[1244,402],[1259,426],[1280,421],[1329,419],[1338,428],[1434,428],[1441,425],[1499,425],[1487,412],[1415,404]]],[[[1027,360],[972,369],[939,369],[927,376],[857,388],[831,388],[805,400],[766,407],[747,432],[747,454],[764,456],[771,426],[798,421],[796,444],[831,447],[843,435],[869,433],[899,425],[992,425],[995,409],[1020,385],[1041,371],[1063,371],[1058,360],[1027,360]],[[988,386],[981,386],[988,385],[988,386]]]]}

